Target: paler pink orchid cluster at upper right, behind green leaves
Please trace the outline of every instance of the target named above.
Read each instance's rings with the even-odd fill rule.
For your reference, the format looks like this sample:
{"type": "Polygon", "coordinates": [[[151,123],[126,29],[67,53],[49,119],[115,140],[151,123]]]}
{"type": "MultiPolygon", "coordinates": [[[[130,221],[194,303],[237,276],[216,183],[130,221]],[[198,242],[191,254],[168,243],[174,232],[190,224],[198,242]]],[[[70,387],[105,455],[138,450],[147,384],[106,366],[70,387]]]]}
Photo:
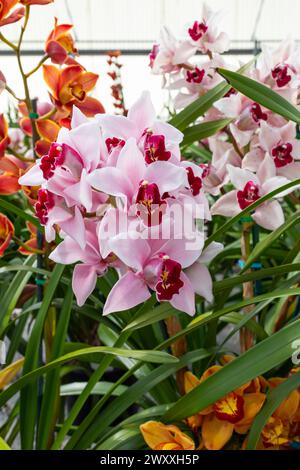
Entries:
{"type": "MultiPolygon", "coordinates": [[[[150,53],[152,72],[163,76],[167,89],[177,91],[175,108],[186,106],[220,83],[218,67],[233,68],[220,56],[229,42],[227,35],[219,31],[219,19],[219,13],[204,7],[202,19],[187,27],[185,39],[176,39],[164,28],[160,43],[154,45],[150,53]],[[197,52],[208,58],[200,55],[198,63],[197,52]]],[[[256,64],[246,73],[297,106],[299,57],[299,47],[290,39],[275,50],[263,46],[256,64]]],[[[297,161],[300,142],[296,138],[296,124],[263,109],[233,89],[215,102],[201,119],[222,118],[230,118],[232,122],[202,141],[211,153],[203,186],[214,196],[222,193],[211,213],[231,217],[272,190],[300,178],[300,162],[297,161]],[[234,190],[226,192],[229,183],[234,190]]],[[[280,226],[284,213],[278,198],[283,195],[259,206],[252,214],[253,220],[267,230],[280,226]]]]}

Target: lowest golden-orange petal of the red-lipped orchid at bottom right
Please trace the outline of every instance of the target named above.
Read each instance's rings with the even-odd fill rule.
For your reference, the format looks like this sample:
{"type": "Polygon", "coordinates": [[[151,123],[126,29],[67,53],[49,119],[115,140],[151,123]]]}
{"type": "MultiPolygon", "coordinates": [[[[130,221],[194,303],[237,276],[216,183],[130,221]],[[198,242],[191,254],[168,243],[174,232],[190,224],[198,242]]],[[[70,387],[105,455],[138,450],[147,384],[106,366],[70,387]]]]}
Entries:
{"type": "Polygon", "coordinates": [[[231,439],[234,426],[227,421],[220,421],[214,413],[204,417],[202,439],[208,450],[220,450],[231,439]]]}

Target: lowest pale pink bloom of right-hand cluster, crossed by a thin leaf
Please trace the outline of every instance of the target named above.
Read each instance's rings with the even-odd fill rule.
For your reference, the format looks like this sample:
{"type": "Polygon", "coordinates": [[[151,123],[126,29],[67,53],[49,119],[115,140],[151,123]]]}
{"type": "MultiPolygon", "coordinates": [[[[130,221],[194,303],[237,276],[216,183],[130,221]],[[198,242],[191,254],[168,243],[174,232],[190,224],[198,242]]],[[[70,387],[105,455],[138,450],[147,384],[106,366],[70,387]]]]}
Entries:
{"type": "MultiPolygon", "coordinates": [[[[276,169],[269,155],[265,156],[256,174],[231,165],[227,166],[227,170],[236,189],[221,196],[211,208],[212,214],[225,217],[237,215],[260,197],[289,182],[283,176],[276,176],[276,169]]],[[[282,194],[279,194],[276,197],[281,196],[282,194]]],[[[251,216],[258,225],[267,230],[275,230],[284,222],[283,210],[277,200],[261,204],[251,216]]]]}

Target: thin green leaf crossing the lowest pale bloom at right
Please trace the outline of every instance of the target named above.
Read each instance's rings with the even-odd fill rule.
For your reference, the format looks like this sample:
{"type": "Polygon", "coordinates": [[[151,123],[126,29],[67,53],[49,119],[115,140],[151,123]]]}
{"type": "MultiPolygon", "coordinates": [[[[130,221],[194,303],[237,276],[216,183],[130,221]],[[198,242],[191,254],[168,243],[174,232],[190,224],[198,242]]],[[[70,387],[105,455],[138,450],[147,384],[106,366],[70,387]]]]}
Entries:
{"type": "Polygon", "coordinates": [[[293,188],[298,185],[300,185],[300,179],[284,184],[283,186],[280,186],[279,188],[274,189],[274,191],[271,191],[265,196],[257,199],[257,201],[253,202],[253,204],[246,207],[246,209],[242,210],[239,214],[229,219],[227,222],[225,222],[224,225],[222,225],[218,230],[216,230],[212,235],[210,235],[205,242],[205,247],[207,247],[211,242],[218,240],[222,235],[224,235],[228,231],[228,229],[232,227],[232,225],[238,222],[242,217],[245,217],[246,215],[250,214],[258,206],[268,201],[272,197],[277,196],[277,194],[280,194],[281,192],[286,191],[287,189],[293,188]]]}

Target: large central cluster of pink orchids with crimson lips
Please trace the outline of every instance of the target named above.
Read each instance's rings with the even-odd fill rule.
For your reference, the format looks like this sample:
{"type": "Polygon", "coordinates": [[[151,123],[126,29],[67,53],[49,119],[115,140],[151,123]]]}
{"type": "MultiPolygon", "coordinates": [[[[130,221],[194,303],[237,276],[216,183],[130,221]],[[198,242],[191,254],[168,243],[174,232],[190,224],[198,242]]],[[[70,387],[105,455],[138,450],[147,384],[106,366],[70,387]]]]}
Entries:
{"type": "Polygon", "coordinates": [[[47,241],[57,233],[63,238],[50,258],[77,263],[73,290],[79,305],[109,267],[119,281],[104,314],[145,302],[151,292],[190,315],[195,293],[212,300],[206,263],[222,245],[203,250],[197,225],[210,218],[205,171],[181,159],[182,138],[156,120],[147,92],[127,117],[88,120],[74,108],[71,129],[62,128],[48,154],[21,177],[23,185],[41,186],[35,208],[47,241]],[[182,214],[176,217],[178,208],[187,214],[188,228],[182,214]]]}

